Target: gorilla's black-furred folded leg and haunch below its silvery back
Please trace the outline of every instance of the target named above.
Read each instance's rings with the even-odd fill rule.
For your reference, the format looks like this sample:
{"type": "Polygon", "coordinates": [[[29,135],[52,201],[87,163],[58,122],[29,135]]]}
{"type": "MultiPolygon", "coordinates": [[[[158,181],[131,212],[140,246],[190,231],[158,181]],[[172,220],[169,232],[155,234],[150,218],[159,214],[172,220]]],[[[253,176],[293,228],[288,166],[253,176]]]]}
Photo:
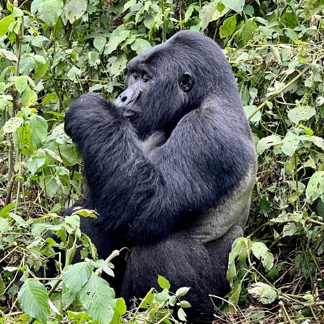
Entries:
{"type": "Polygon", "coordinates": [[[214,307],[208,295],[227,293],[228,254],[241,233],[241,228],[233,228],[204,246],[188,233],[178,232],[156,244],[134,247],[127,262],[121,296],[126,303],[133,296],[144,297],[151,287],[158,287],[157,276],[161,275],[170,281],[172,292],[191,287],[184,297],[191,304],[190,313],[212,315],[214,307]]]}

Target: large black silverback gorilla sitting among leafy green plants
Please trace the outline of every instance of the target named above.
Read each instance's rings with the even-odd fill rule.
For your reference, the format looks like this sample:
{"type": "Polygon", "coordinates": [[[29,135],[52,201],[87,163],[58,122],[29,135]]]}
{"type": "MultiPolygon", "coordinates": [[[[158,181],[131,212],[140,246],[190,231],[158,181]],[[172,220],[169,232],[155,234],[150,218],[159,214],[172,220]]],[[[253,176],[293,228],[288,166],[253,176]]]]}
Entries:
{"type": "Polygon", "coordinates": [[[131,248],[120,295],[144,297],[162,275],[171,290],[191,287],[194,313],[213,314],[208,295],[227,293],[228,254],[256,177],[249,123],[219,46],[176,33],[128,63],[115,104],[83,95],[64,127],[84,160],[83,206],[100,215],[84,218],[82,231],[100,258],[131,248]]]}

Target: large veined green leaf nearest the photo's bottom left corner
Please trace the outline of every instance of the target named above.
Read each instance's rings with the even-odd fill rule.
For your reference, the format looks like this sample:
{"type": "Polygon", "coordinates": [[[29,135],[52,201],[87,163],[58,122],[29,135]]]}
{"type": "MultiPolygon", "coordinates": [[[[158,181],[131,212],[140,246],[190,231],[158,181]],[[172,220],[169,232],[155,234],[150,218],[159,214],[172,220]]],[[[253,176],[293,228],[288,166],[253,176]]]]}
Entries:
{"type": "Polygon", "coordinates": [[[27,280],[18,293],[21,309],[29,316],[36,318],[40,323],[46,324],[51,315],[48,306],[48,295],[43,284],[37,280],[27,280]]]}

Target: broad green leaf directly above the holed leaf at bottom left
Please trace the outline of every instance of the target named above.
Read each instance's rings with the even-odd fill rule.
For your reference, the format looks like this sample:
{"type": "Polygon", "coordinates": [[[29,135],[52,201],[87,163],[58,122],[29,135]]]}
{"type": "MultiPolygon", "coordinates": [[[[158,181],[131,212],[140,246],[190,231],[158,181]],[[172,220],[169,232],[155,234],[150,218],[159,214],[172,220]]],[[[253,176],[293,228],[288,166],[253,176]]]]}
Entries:
{"type": "Polygon", "coordinates": [[[79,292],[89,280],[93,268],[91,261],[78,262],[67,266],[62,275],[66,289],[72,294],[79,292]]]}

